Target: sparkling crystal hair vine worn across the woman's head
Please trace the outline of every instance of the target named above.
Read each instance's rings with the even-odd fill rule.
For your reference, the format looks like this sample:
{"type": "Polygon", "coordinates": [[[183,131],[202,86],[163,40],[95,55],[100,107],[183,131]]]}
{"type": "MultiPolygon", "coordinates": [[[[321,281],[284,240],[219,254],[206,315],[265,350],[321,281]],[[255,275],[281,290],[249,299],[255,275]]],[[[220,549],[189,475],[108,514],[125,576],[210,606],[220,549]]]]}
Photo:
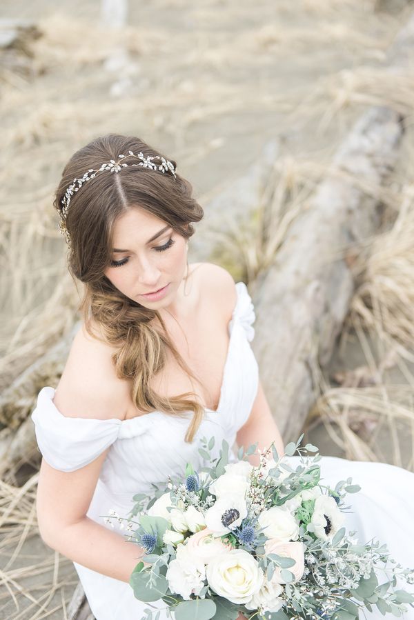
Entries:
{"type": "Polygon", "coordinates": [[[86,183],[86,181],[90,181],[90,179],[95,179],[99,172],[103,172],[104,170],[110,170],[110,172],[119,172],[120,170],[122,170],[122,168],[126,168],[127,166],[142,166],[143,168],[148,168],[149,170],[159,170],[163,174],[170,170],[173,176],[177,178],[175,174],[175,168],[171,161],[165,159],[164,157],[161,157],[160,155],[147,155],[145,157],[141,151],[139,151],[137,155],[135,155],[132,151],[128,151],[128,155],[118,155],[118,161],[115,161],[115,159],[111,159],[110,161],[108,161],[108,163],[103,163],[101,168],[98,168],[98,170],[90,168],[87,172],[85,172],[85,174],[83,174],[83,177],[80,177],[79,179],[73,179],[72,183],[70,183],[70,186],[66,189],[63,199],[61,199],[62,208],[60,210],[61,220],[59,222],[59,230],[61,234],[63,234],[63,236],[66,238],[68,245],[70,245],[70,234],[66,228],[66,216],[68,214],[70,200],[72,199],[73,194],[79,191],[81,186],[83,186],[83,183],[86,183]],[[125,159],[126,157],[135,157],[136,159],[140,159],[141,161],[139,161],[139,163],[125,163],[124,161],[122,161],[122,159],[125,159]],[[160,159],[161,163],[154,163],[154,161],[152,161],[154,159],[160,159]]]}

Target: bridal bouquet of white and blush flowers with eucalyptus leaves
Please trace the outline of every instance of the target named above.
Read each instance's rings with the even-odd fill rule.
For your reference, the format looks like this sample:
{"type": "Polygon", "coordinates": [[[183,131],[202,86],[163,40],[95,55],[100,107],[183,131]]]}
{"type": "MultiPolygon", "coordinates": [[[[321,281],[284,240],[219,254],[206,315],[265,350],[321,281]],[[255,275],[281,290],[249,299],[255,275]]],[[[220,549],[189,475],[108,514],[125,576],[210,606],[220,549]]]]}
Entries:
{"type": "MultiPolygon", "coordinates": [[[[342,527],[346,494],[359,487],[320,483],[317,448],[301,441],[281,458],[272,444],[253,467],[256,446],[229,463],[226,441],[212,459],[214,438],[203,439],[210,466],[188,463],[185,477],[155,487],[154,497],[135,495],[127,535],[146,550],[130,577],[135,597],[162,599],[176,620],[353,620],[375,608],[399,617],[413,606],[414,595],[397,589],[397,580],[414,582],[412,572],[385,545],[362,545],[342,527]]],[[[150,607],[144,620],[157,620],[159,608],[150,607]]]]}

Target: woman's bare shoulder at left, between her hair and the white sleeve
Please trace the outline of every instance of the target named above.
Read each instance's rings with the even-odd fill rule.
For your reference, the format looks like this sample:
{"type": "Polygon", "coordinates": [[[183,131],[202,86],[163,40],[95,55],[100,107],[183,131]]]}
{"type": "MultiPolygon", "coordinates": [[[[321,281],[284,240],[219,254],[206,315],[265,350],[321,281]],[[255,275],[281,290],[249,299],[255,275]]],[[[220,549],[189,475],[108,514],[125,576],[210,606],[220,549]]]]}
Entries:
{"type": "Polygon", "coordinates": [[[124,419],[128,386],[117,377],[114,353],[115,349],[88,334],[81,323],[53,399],[63,415],[124,419]]]}

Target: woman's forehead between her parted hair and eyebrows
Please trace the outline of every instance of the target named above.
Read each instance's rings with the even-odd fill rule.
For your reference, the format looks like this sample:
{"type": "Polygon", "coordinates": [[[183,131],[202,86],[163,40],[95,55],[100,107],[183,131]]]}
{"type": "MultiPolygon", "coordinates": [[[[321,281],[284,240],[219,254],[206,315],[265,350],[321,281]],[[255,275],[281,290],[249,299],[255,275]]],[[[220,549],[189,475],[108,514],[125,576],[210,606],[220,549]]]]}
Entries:
{"type": "Polygon", "coordinates": [[[155,232],[167,226],[166,221],[140,207],[134,207],[121,214],[114,222],[113,245],[116,248],[128,247],[130,240],[145,244],[155,232]],[[124,243],[124,246],[120,245],[124,243]]]}

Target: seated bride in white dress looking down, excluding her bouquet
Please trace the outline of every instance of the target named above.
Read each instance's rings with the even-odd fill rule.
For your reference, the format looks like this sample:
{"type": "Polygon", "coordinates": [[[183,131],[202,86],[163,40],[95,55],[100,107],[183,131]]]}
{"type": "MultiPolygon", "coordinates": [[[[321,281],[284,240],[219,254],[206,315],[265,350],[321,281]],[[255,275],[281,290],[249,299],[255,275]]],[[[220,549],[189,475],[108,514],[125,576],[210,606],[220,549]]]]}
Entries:
{"type": "MultiPolygon", "coordinates": [[[[77,151],[56,192],[68,268],[84,285],[83,321],[58,385],[39,392],[32,412],[43,455],[37,517],[43,541],[73,561],[97,620],[139,619],[148,608],[128,583],[144,550],[106,519],[110,510],[126,517],[134,494],[188,461],[201,467],[203,437],[215,436],[213,456],[222,439],[275,441],[283,453],[250,346],[246,285],[212,263],[188,263],[203,217],[191,194],[175,161],[115,134],[77,151]]],[[[321,469],[326,483],[362,486],[348,528],[414,564],[414,474],[333,457],[321,469]]]]}

